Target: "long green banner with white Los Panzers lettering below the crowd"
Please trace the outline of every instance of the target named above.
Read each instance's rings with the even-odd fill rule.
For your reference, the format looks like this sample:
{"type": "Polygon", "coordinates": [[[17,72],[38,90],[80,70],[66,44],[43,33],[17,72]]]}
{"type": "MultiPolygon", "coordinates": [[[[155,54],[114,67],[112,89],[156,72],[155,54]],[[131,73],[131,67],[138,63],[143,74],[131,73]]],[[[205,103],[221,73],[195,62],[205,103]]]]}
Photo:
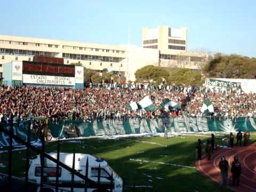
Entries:
{"type": "Polygon", "coordinates": [[[256,118],[210,118],[210,117],[173,117],[138,119],[126,118],[123,122],[114,119],[94,121],[92,123],[77,121],[61,121],[59,124],[50,123],[52,136],[55,138],[67,137],[70,129],[78,130],[81,137],[98,135],[118,135],[135,133],[163,133],[167,132],[206,132],[223,131],[235,132],[238,130],[256,131],[256,118]]]}

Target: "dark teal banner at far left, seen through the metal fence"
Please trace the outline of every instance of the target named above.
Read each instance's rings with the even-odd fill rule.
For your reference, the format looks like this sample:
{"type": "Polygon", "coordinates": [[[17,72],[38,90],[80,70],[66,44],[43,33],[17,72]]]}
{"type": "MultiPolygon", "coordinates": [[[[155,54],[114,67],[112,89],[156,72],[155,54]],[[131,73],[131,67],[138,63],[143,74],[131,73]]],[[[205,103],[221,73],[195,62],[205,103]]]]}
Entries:
{"type": "MultiPolygon", "coordinates": [[[[10,130],[9,124],[4,125],[5,129],[10,130]]],[[[17,135],[19,138],[27,141],[27,130],[30,129],[30,121],[21,121],[19,126],[18,123],[13,123],[13,133],[17,135]]],[[[37,137],[31,131],[30,141],[36,141],[37,137]]],[[[20,145],[15,139],[13,139],[13,146],[20,145]]],[[[0,131],[0,147],[9,146],[9,136],[0,131]]]]}

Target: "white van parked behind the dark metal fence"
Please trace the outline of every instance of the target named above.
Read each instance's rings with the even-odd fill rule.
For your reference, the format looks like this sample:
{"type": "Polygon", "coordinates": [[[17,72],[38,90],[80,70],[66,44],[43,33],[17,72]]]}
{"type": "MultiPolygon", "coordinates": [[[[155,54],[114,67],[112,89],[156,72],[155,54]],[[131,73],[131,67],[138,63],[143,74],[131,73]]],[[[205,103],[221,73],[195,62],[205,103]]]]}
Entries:
{"type": "MultiPolygon", "coordinates": [[[[57,159],[57,153],[49,153],[50,156],[57,159]]],[[[75,170],[79,173],[85,175],[85,169],[86,169],[86,160],[88,157],[89,161],[89,167],[88,167],[88,178],[97,182],[98,181],[98,171],[99,171],[99,165],[100,165],[100,183],[103,185],[110,185],[110,178],[111,173],[113,173],[113,183],[115,188],[113,191],[115,192],[121,192],[123,190],[123,180],[115,173],[113,169],[111,169],[110,166],[108,166],[108,163],[104,161],[102,158],[95,158],[89,154],[76,154],[75,155],[75,170]]],[[[73,154],[71,153],[60,153],[60,162],[66,164],[70,168],[73,165],[73,154]]],[[[57,173],[56,169],[56,163],[52,162],[50,159],[45,158],[45,168],[44,168],[44,175],[46,178],[46,181],[44,182],[47,185],[51,184],[54,186],[55,184],[55,176],[57,173]]],[[[71,187],[71,172],[64,169],[63,167],[59,166],[59,191],[62,191],[61,189],[70,190],[71,187]]],[[[40,163],[40,156],[37,155],[36,159],[33,159],[30,167],[29,167],[29,180],[35,181],[37,183],[40,183],[41,181],[41,163],[40,163]]],[[[83,185],[81,185],[81,188],[79,187],[79,184],[84,183],[84,180],[77,177],[75,175],[74,177],[74,191],[84,191],[83,185]]],[[[49,188],[47,191],[51,191],[49,188]]],[[[55,191],[54,188],[52,188],[52,191],[55,191]]],[[[87,189],[88,192],[96,192],[98,191],[95,188],[89,188],[87,189]]],[[[110,191],[110,190],[109,190],[110,191]]]]}

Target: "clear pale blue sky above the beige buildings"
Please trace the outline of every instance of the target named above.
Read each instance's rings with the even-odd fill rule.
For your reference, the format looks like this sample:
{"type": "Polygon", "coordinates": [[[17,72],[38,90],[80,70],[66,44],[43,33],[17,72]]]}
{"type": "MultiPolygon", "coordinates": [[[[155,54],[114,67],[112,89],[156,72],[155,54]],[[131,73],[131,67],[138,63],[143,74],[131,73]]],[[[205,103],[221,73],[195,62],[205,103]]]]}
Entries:
{"type": "Polygon", "coordinates": [[[188,50],[256,57],[254,0],[2,0],[1,35],[141,46],[142,27],[188,28],[188,50]]]}

